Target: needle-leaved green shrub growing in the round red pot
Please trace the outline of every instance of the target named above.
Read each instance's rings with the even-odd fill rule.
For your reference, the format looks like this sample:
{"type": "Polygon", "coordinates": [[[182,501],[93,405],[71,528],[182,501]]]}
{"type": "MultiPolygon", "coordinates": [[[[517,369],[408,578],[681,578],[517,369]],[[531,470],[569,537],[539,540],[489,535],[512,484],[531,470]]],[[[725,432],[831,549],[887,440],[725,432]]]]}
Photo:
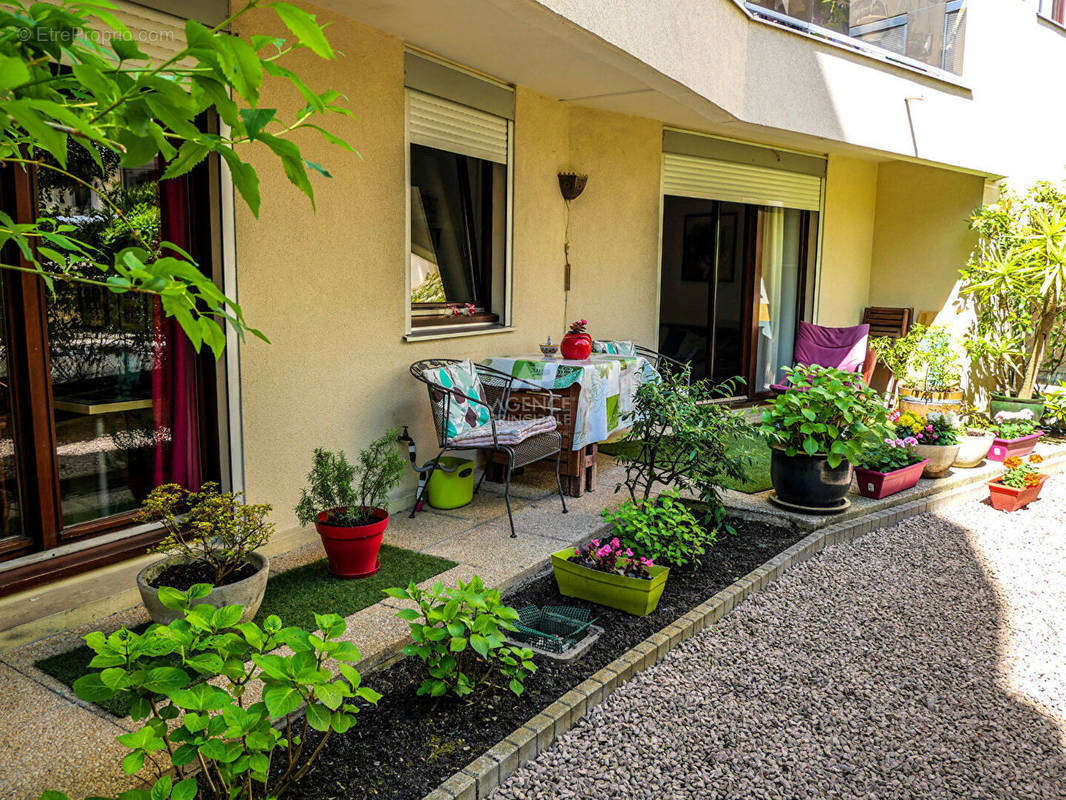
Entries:
{"type": "Polygon", "coordinates": [[[389,492],[400,483],[407,462],[397,448],[398,429],[386,431],[353,466],[340,450],[314,450],[308,486],[301,490],[296,518],[310,525],[323,511],[329,525],[356,527],[374,522],[374,509],[389,508],[389,492]]]}

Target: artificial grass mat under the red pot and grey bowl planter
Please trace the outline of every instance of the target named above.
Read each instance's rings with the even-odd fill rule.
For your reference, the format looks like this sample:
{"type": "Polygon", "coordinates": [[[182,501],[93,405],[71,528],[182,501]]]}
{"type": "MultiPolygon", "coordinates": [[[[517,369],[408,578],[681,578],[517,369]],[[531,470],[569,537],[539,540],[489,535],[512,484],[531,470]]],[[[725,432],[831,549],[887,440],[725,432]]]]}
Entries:
{"type": "MultiPolygon", "coordinates": [[[[286,625],[313,629],[316,613],[349,617],[382,599],[384,589],[406,587],[413,580],[417,583],[455,566],[455,562],[447,558],[387,544],[382,545],[377,558],[382,569],[369,578],[345,580],[334,577],[326,569],[325,559],[271,576],[256,622],[262,624],[270,614],[277,614],[286,625]]],[[[138,625],[132,630],[142,634],[147,627],[147,624],[138,625]]],[[[75,681],[92,671],[88,662],[94,655],[88,646],[82,644],[66,653],[42,658],[34,667],[66,686],[74,686],[75,681]]],[[[130,709],[128,695],[123,694],[97,705],[115,717],[125,717],[130,709]]]]}

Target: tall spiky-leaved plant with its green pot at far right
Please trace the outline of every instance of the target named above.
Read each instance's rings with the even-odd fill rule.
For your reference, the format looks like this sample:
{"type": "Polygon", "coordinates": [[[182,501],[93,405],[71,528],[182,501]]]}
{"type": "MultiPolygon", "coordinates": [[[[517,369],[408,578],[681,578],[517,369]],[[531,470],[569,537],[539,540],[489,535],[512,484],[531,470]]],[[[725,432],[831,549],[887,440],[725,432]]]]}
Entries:
{"type": "Polygon", "coordinates": [[[1066,333],[1064,221],[1066,189],[1046,181],[1024,194],[1004,191],[970,220],[979,238],[962,270],[962,293],[975,314],[966,348],[976,377],[994,386],[994,416],[1025,407],[1033,419],[1043,416],[1036,381],[1054,366],[1049,343],[1066,333]]]}

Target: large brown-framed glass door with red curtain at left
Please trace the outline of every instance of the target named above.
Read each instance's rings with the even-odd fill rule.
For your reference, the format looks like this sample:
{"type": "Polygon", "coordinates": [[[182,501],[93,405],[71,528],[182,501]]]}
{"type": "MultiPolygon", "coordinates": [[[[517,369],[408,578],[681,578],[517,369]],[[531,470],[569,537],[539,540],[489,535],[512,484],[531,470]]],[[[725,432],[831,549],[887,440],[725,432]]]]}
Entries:
{"type": "MultiPolygon", "coordinates": [[[[93,190],[46,170],[35,179],[9,170],[5,209],[72,225],[103,261],[123,247],[167,240],[210,266],[207,164],[160,181],[155,165],[126,170],[104,159],[101,176],[76,144],[69,163],[93,190]]],[[[74,267],[95,277],[90,270],[74,267]]],[[[193,352],[158,298],[69,282],[49,292],[34,275],[11,271],[0,286],[2,592],[39,582],[28,576],[53,562],[65,571],[53,574],[95,565],[92,546],[71,556],[81,561],[32,558],[75,541],[111,534],[101,547],[112,561],[143,553],[158,533],[124,529],[145,495],[164,482],[217,480],[219,458],[214,361],[193,352]]]]}

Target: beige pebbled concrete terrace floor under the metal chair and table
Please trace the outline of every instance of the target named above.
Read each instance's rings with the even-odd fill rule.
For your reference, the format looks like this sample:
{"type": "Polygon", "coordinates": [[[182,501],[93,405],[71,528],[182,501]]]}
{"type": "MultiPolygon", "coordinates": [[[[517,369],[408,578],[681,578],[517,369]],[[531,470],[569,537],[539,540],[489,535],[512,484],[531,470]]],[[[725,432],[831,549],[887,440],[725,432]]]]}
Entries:
{"type": "MultiPolygon", "coordinates": [[[[539,571],[552,551],[598,529],[600,510],[620,499],[614,493],[620,478],[621,470],[603,457],[598,491],[566,498],[569,513],[564,516],[553,471],[530,467],[512,484],[517,539],[511,539],[503,486],[486,482],[464,508],[429,509],[414,519],[407,512],[397,513],[385,542],[457,563],[426,582],[442,580],[454,586],[458,579],[480,575],[488,585],[506,588],[539,571]]],[[[282,572],[324,556],[321,545],[313,543],[273,558],[271,571],[282,572]]],[[[364,670],[403,646],[407,624],[395,617],[400,607],[398,601],[385,598],[348,618],[345,638],[362,652],[364,670]]],[[[119,762],[128,751],[115,741],[136,725],[83,703],[33,665],[80,645],[81,637],[92,630],[111,633],[147,621],[144,608],[136,606],[0,654],[0,798],[36,800],[45,789],[76,799],[112,796],[138,785],[123,774],[119,762]]]]}

